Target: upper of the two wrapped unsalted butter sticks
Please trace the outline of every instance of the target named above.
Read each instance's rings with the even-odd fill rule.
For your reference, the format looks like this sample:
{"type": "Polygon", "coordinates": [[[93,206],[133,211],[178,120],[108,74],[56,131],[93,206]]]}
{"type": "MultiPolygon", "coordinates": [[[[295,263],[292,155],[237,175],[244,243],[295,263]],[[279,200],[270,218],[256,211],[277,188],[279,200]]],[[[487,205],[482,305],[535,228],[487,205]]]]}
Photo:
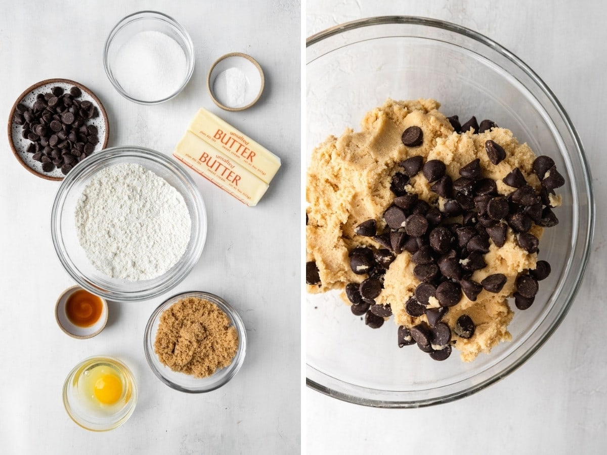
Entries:
{"type": "Polygon", "coordinates": [[[188,129],[265,183],[270,183],[280,167],[280,158],[274,153],[206,109],[198,110],[188,129]]]}

